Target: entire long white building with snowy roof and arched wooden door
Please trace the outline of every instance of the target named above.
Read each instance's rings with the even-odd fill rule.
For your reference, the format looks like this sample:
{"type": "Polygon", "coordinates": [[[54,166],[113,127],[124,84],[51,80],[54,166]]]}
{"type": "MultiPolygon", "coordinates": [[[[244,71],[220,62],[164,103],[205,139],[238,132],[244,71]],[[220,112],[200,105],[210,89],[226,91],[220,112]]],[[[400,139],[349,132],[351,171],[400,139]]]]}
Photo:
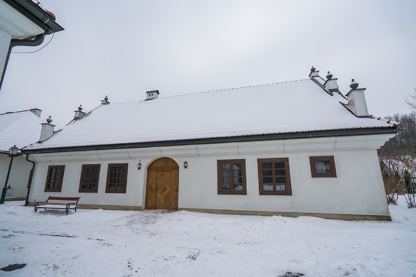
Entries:
{"type": "MultiPolygon", "coordinates": [[[[390,220],[376,150],[400,124],[368,115],[319,77],[76,111],[22,150],[36,163],[29,202],[390,220]],[[48,134],[49,135],[45,135],[48,134]]],[[[142,98],[142,97],[140,97],[142,98]]],[[[144,97],[143,97],[144,98],[144,97]]]]}

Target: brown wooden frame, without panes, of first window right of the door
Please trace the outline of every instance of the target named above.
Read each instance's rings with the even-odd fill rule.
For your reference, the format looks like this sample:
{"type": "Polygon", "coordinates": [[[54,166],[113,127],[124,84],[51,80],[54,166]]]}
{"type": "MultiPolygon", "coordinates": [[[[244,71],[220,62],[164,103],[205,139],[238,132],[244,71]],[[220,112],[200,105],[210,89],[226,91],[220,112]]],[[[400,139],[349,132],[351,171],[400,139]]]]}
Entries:
{"type": "Polygon", "coordinates": [[[236,194],[236,195],[247,195],[247,184],[246,184],[246,160],[245,159],[219,159],[217,160],[217,189],[218,189],[218,194],[236,194]],[[224,177],[222,175],[222,164],[226,164],[229,163],[230,164],[230,169],[229,169],[229,176],[225,176],[225,178],[230,178],[230,189],[229,190],[224,190],[223,187],[223,182],[222,182],[222,178],[224,177]],[[242,164],[242,168],[241,168],[241,175],[242,176],[234,176],[233,175],[233,169],[232,169],[232,165],[234,163],[241,163],[242,164]],[[234,177],[241,177],[242,178],[242,190],[234,190],[233,189],[233,182],[231,180],[233,180],[234,177]]]}

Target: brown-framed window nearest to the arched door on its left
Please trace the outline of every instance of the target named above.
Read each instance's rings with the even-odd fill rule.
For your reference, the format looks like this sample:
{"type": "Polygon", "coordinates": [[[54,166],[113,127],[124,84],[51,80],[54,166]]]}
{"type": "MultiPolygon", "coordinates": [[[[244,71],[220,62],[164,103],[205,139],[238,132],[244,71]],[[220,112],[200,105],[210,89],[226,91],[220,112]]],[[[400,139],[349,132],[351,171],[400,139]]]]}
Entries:
{"type": "Polygon", "coordinates": [[[125,193],[127,168],[127,163],[108,164],[106,193],[125,193]]]}

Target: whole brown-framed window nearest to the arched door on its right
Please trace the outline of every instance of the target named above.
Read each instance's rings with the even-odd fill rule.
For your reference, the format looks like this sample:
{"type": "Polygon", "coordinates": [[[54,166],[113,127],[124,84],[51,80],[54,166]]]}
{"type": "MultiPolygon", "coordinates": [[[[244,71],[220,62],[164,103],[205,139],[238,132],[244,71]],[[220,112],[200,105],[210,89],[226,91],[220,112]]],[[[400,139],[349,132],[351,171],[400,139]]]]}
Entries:
{"type": "Polygon", "coordinates": [[[218,160],[218,194],[243,194],[246,189],[246,160],[218,160]]]}

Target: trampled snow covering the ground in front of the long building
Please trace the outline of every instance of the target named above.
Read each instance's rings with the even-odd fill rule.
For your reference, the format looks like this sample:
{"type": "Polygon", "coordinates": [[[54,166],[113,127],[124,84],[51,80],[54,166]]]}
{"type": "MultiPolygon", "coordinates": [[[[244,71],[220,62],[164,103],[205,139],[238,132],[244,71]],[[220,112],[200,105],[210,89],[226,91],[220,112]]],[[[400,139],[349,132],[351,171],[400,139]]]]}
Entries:
{"type": "Polygon", "coordinates": [[[416,277],[416,208],[392,222],[0,205],[0,277],[416,277]]]}

